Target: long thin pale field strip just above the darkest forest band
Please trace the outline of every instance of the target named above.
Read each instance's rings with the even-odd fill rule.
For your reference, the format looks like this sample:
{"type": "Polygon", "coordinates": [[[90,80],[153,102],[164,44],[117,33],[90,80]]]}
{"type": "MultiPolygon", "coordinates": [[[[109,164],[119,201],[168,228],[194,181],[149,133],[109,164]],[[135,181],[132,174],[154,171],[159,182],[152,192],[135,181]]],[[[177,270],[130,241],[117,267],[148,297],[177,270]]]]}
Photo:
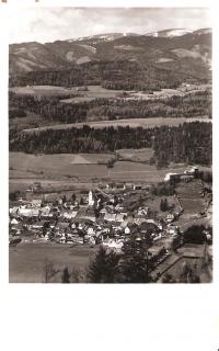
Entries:
{"type": "Polygon", "coordinates": [[[24,129],[25,133],[31,132],[41,132],[46,129],[68,129],[71,127],[83,127],[84,125],[89,125],[93,128],[104,128],[108,126],[117,127],[117,126],[129,126],[130,128],[136,127],[142,127],[142,128],[153,128],[159,127],[162,125],[168,126],[178,126],[183,123],[191,123],[191,122],[209,122],[211,123],[211,120],[206,117],[192,117],[192,118],[174,118],[174,117],[151,117],[151,118],[124,118],[124,120],[116,120],[116,121],[99,121],[99,122],[82,122],[82,123],[70,123],[70,124],[55,124],[55,125],[48,125],[37,128],[28,128],[24,129]]]}

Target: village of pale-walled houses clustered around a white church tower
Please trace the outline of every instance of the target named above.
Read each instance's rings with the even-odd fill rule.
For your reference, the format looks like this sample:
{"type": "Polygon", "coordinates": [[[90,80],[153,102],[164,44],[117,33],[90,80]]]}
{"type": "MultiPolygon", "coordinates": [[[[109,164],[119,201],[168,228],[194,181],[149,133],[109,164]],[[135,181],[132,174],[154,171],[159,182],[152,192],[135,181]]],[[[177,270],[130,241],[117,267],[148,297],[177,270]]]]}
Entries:
{"type": "Polygon", "coordinates": [[[163,189],[173,189],[173,184],[178,189],[169,196],[158,194],[153,184],[114,183],[96,184],[93,190],[71,192],[68,196],[57,194],[54,201],[49,201],[45,194],[36,196],[42,190],[35,184],[26,190],[25,199],[10,203],[9,245],[44,242],[90,249],[102,246],[107,251],[122,253],[131,235],[136,240],[143,236],[153,263],[152,274],[159,280],[183,257],[205,260],[207,252],[208,260],[211,259],[212,196],[198,174],[198,168],[168,173],[163,189]],[[199,201],[205,204],[201,211],[195,207],[186,211],[185,197],[182,197],[185,190],[189,193],[189,203],[199,201]],[[193,225],[205,226],[206,239],[203,245],[191,248],[184,240],[184,233],[193,225]]]}

